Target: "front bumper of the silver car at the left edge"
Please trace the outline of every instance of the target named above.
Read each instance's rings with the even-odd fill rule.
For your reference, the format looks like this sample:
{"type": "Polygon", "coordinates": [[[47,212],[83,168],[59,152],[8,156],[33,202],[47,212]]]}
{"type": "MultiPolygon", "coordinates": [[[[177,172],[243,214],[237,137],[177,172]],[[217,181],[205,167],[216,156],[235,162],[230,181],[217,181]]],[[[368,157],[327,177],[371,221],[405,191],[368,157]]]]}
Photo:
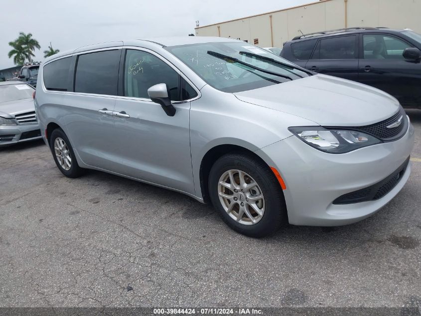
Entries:
{"type": "Polygon", "coordinates": [[[39,124],[0,126],[0,147],[40,138],[39,124]]]}

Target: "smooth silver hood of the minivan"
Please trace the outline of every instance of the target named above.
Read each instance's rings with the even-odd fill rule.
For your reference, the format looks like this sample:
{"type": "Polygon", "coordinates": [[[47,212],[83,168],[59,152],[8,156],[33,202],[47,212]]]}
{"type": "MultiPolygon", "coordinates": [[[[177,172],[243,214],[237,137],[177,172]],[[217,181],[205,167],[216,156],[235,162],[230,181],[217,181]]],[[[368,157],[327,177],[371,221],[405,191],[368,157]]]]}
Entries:
{"type": "Polygon", "coordinates": [[[400,107],[397,99],[379,89],[321,74],[234,95],[322,126],[370,125],[391,117],[400,107]]]}

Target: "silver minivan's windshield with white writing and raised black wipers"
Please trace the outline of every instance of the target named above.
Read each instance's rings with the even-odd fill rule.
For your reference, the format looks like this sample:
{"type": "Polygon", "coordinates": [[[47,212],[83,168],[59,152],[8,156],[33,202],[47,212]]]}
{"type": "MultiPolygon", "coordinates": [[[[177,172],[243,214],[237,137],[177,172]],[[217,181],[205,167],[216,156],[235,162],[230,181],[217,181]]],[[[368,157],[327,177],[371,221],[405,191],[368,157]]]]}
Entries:
{"type": "Polygon", "coordinates": [[[252,90],[309,76],[308,72],[294,68],[297,66],[289,61],[246,42],[200,43],[165,49],[208,84],[224,92],[252,90]],[[239,62],[222,56],[236,58],[239,62]],[[259,56],[273,58],[285,65],[263,60],[259,56]]]}

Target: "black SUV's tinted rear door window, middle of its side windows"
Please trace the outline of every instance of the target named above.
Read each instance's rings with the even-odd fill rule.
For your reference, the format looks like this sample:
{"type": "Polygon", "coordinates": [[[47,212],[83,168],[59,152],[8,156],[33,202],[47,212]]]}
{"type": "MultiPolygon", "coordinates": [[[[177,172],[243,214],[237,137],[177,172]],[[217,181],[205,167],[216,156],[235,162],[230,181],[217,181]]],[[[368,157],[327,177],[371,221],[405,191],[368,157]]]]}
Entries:
{"type": "Polygon", "coordinates": [[[356,57],[357,36],[322,38],[311,59],[353,59],[356,57]]]}

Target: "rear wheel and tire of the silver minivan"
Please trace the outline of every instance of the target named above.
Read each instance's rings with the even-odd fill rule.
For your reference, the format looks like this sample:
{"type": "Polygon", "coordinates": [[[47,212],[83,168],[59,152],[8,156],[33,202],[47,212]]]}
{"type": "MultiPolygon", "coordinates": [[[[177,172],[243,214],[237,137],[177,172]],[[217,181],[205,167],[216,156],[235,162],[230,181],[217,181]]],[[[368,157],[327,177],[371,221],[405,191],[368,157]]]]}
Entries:
{"type": "Polygon", "coordinates": [[[79,167],[70,141],[60,128],[51,133],[50,149],[57,168],[62,174],[69,178],[77,178],[83,174],[84,169],[79,167]]]}

